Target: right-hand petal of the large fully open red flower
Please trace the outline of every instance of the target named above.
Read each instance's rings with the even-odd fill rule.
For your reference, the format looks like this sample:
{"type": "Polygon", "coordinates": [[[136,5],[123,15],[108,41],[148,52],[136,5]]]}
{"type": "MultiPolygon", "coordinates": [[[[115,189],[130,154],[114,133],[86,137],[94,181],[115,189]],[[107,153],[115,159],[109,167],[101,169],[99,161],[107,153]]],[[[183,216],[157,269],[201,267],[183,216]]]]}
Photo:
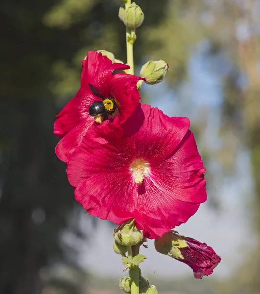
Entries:
{"type": "Polygon", "coordinates": [[[207,200],[204,179],[206,169],[190,131],[167,159],[152,164],[151,169],[154,182],[164,193],[190,203],[202,203],[207,200]]]}

